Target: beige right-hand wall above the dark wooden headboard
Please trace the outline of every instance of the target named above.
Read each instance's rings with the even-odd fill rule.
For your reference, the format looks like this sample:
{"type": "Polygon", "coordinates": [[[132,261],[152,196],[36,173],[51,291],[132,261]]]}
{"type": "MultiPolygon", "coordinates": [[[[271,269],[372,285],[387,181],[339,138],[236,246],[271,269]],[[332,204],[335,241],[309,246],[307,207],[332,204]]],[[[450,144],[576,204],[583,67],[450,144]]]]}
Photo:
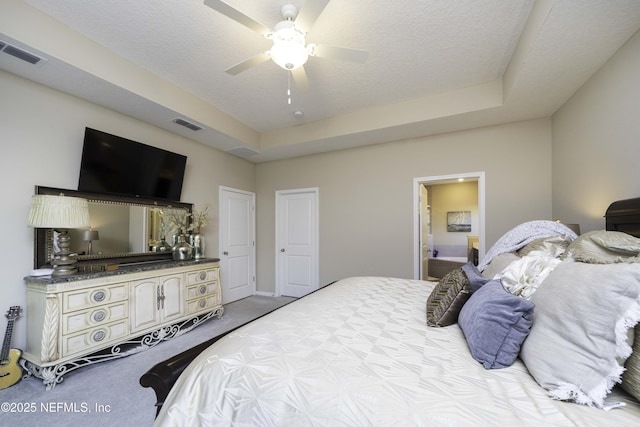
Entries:
{"type": "Polygon", "coordinates": [[[553,216],[583,232],[640,196],[640,33],[554,114],[552,158],[553,216]]]}

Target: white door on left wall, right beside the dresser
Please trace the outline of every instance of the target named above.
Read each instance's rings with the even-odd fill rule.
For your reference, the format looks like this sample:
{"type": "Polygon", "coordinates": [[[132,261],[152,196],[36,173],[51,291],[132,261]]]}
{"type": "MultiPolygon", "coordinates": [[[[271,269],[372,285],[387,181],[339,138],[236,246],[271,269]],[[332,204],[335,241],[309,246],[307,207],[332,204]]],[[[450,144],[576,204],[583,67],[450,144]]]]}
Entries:
{"type": "Polygon", "coordinates": [[[256,293],[255,194],[220,187],[222,303],[256,293]]]}

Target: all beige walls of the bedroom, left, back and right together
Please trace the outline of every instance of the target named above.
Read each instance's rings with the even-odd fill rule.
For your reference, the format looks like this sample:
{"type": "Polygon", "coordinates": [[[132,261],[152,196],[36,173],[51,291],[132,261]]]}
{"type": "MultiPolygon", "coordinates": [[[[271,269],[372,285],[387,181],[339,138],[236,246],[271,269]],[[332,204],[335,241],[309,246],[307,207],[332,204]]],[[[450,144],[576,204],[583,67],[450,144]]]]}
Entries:
{"type": "MultiPolygon", "coordinates": [[[[218,186],[257,193],[258,290],[275,289],[275,191],[320,188],[320,283],[413,274],[413,178],[485,172],[486,248],[513,226],[560,218],[604,226],[617,199],[640,195],[640,35],[551,119],[253,165],[0,71],[0,257],[6,307],[25,305],[26,226],[35,185],[76,188],[85,126],[188,156],[182,199],[218,211],[218,186]],[[553,141],[552,141],[553,131],[553,141]],[[553,143],[552,143],[553,142],[553,143]],[[552,173],[553,171],[553,173],[552,173]],[[552,189],[553,184],[553,189],[552,189]],[[553,211],[552,211],[553,202],[553,211]],[[7,209],[6,206],[11,206],[7,209]]],[[[217,218],[206,231],[218,254],[217,218]]],[[[4,330],[5,319],[0,319],[4,330]]],[[[14,346],[24,346],[24,321],[14,346]]]]}

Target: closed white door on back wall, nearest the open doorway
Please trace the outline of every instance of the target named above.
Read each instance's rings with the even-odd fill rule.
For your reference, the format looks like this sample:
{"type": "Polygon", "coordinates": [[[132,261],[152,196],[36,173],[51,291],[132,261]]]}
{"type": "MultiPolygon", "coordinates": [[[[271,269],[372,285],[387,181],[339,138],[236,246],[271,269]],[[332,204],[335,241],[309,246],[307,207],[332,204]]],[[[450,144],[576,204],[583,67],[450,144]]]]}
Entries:
{"type": "Polygon", "coordinates": [[[318,189],[276,192],[276,295],[318,289],[318,189]]]}

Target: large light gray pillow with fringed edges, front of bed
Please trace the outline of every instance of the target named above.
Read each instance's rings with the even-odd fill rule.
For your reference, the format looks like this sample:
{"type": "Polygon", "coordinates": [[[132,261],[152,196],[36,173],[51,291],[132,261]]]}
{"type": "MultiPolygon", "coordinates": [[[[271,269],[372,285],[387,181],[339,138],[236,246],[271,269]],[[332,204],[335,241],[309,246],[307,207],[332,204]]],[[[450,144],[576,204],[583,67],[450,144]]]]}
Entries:
{"type": "Polygon", "coordinates": [[[607,407],[631,354],[627,330],[640,320],[640,263],[566,260],[531,297],[533,327],[520,358],[550,395],[607,407]]]}

